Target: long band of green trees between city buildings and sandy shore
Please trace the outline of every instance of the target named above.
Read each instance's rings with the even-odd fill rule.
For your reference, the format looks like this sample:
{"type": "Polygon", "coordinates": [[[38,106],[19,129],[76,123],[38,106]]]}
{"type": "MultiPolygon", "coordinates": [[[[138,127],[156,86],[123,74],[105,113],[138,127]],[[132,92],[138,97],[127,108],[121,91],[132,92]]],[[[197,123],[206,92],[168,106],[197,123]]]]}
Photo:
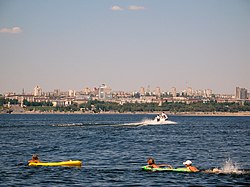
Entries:
{"type": "MultiPolygon", "coordinates": [[[[0,106],[4,104],[18,104],[17,100],[9,100],[0,97],[0,106]]],[[[217,102],[196,102],[191,104],[186,103],[168,103],[165,102],[161,106],[158,103],[125,103],[120,105],[114,102],[104,102],[99,100],[90,100],[83,104],[72,104],[69,106],[56,106],[53,107],[51,102],[28,102],[24,100],[23,104],[27,110],[40,110],[40,111],[93,111],[98,112],[156,112],[156,111],[169,111],[169,112],[239,112],[250,111],[250,103],[217,103],[217,102]]]]}

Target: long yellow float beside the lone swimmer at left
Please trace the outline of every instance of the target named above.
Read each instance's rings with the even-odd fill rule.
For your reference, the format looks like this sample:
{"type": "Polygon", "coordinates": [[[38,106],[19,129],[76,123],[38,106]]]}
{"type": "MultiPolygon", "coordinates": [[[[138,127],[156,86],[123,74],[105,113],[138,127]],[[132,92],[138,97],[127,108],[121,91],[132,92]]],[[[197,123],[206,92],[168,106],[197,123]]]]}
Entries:
{"type": "Polygon", "coordinates": [[[39,162],[39,163],[29,163],[29,166],[82,166],[82,161],[79,160],[69,160],[63,162],[39,162]]]}

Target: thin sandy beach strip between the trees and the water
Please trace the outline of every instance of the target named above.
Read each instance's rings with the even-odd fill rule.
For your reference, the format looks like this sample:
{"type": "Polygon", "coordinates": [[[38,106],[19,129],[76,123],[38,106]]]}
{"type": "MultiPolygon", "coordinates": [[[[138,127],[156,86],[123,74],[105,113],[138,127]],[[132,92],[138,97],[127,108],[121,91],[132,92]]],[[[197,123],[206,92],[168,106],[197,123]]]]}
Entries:
{"type": "MultiPolygon", "coordinates": [[[[25,111],[25,112],[12,112],[12,114],[76,114],[76,115],[86,115],[86,114],[159,114],[161,111],[158,112],[100,112],[100,113],[92,113],[92,112],[40,112],[40,111],[25,111]]],[[[247,112],[167,112],[165,111],[167,115],[170,116],[250,116],[250,111],[247,112]]],[[[0,114],[6,114],[6,113],[0,113],[0,114]]]]}

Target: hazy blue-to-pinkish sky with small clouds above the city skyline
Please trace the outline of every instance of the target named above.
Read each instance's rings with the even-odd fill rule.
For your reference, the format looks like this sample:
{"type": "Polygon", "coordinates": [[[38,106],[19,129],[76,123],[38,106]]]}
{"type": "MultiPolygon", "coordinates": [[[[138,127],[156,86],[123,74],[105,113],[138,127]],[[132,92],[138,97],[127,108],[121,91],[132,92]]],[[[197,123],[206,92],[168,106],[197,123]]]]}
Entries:
{"type": "Polygon", "coordinates": [[[249,0],[0,0],[0,93],[250,90],[249,0]]]}

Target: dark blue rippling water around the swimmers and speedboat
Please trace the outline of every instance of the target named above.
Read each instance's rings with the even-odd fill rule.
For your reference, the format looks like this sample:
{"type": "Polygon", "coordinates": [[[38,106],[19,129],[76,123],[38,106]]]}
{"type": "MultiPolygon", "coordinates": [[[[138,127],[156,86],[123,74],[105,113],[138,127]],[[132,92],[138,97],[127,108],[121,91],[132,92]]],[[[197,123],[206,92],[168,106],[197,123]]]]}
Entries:
{"type": "Polygon", "coordinates": [[[0,186],[247,186],[249,174],[145,172],[147,158],[199,169],[250,169],[250,117],[170,116],[177,124],[142,125],[153,115],[0,115],[0,186]],[[82,160],[82,168],[28,167],[82,160]]]}

